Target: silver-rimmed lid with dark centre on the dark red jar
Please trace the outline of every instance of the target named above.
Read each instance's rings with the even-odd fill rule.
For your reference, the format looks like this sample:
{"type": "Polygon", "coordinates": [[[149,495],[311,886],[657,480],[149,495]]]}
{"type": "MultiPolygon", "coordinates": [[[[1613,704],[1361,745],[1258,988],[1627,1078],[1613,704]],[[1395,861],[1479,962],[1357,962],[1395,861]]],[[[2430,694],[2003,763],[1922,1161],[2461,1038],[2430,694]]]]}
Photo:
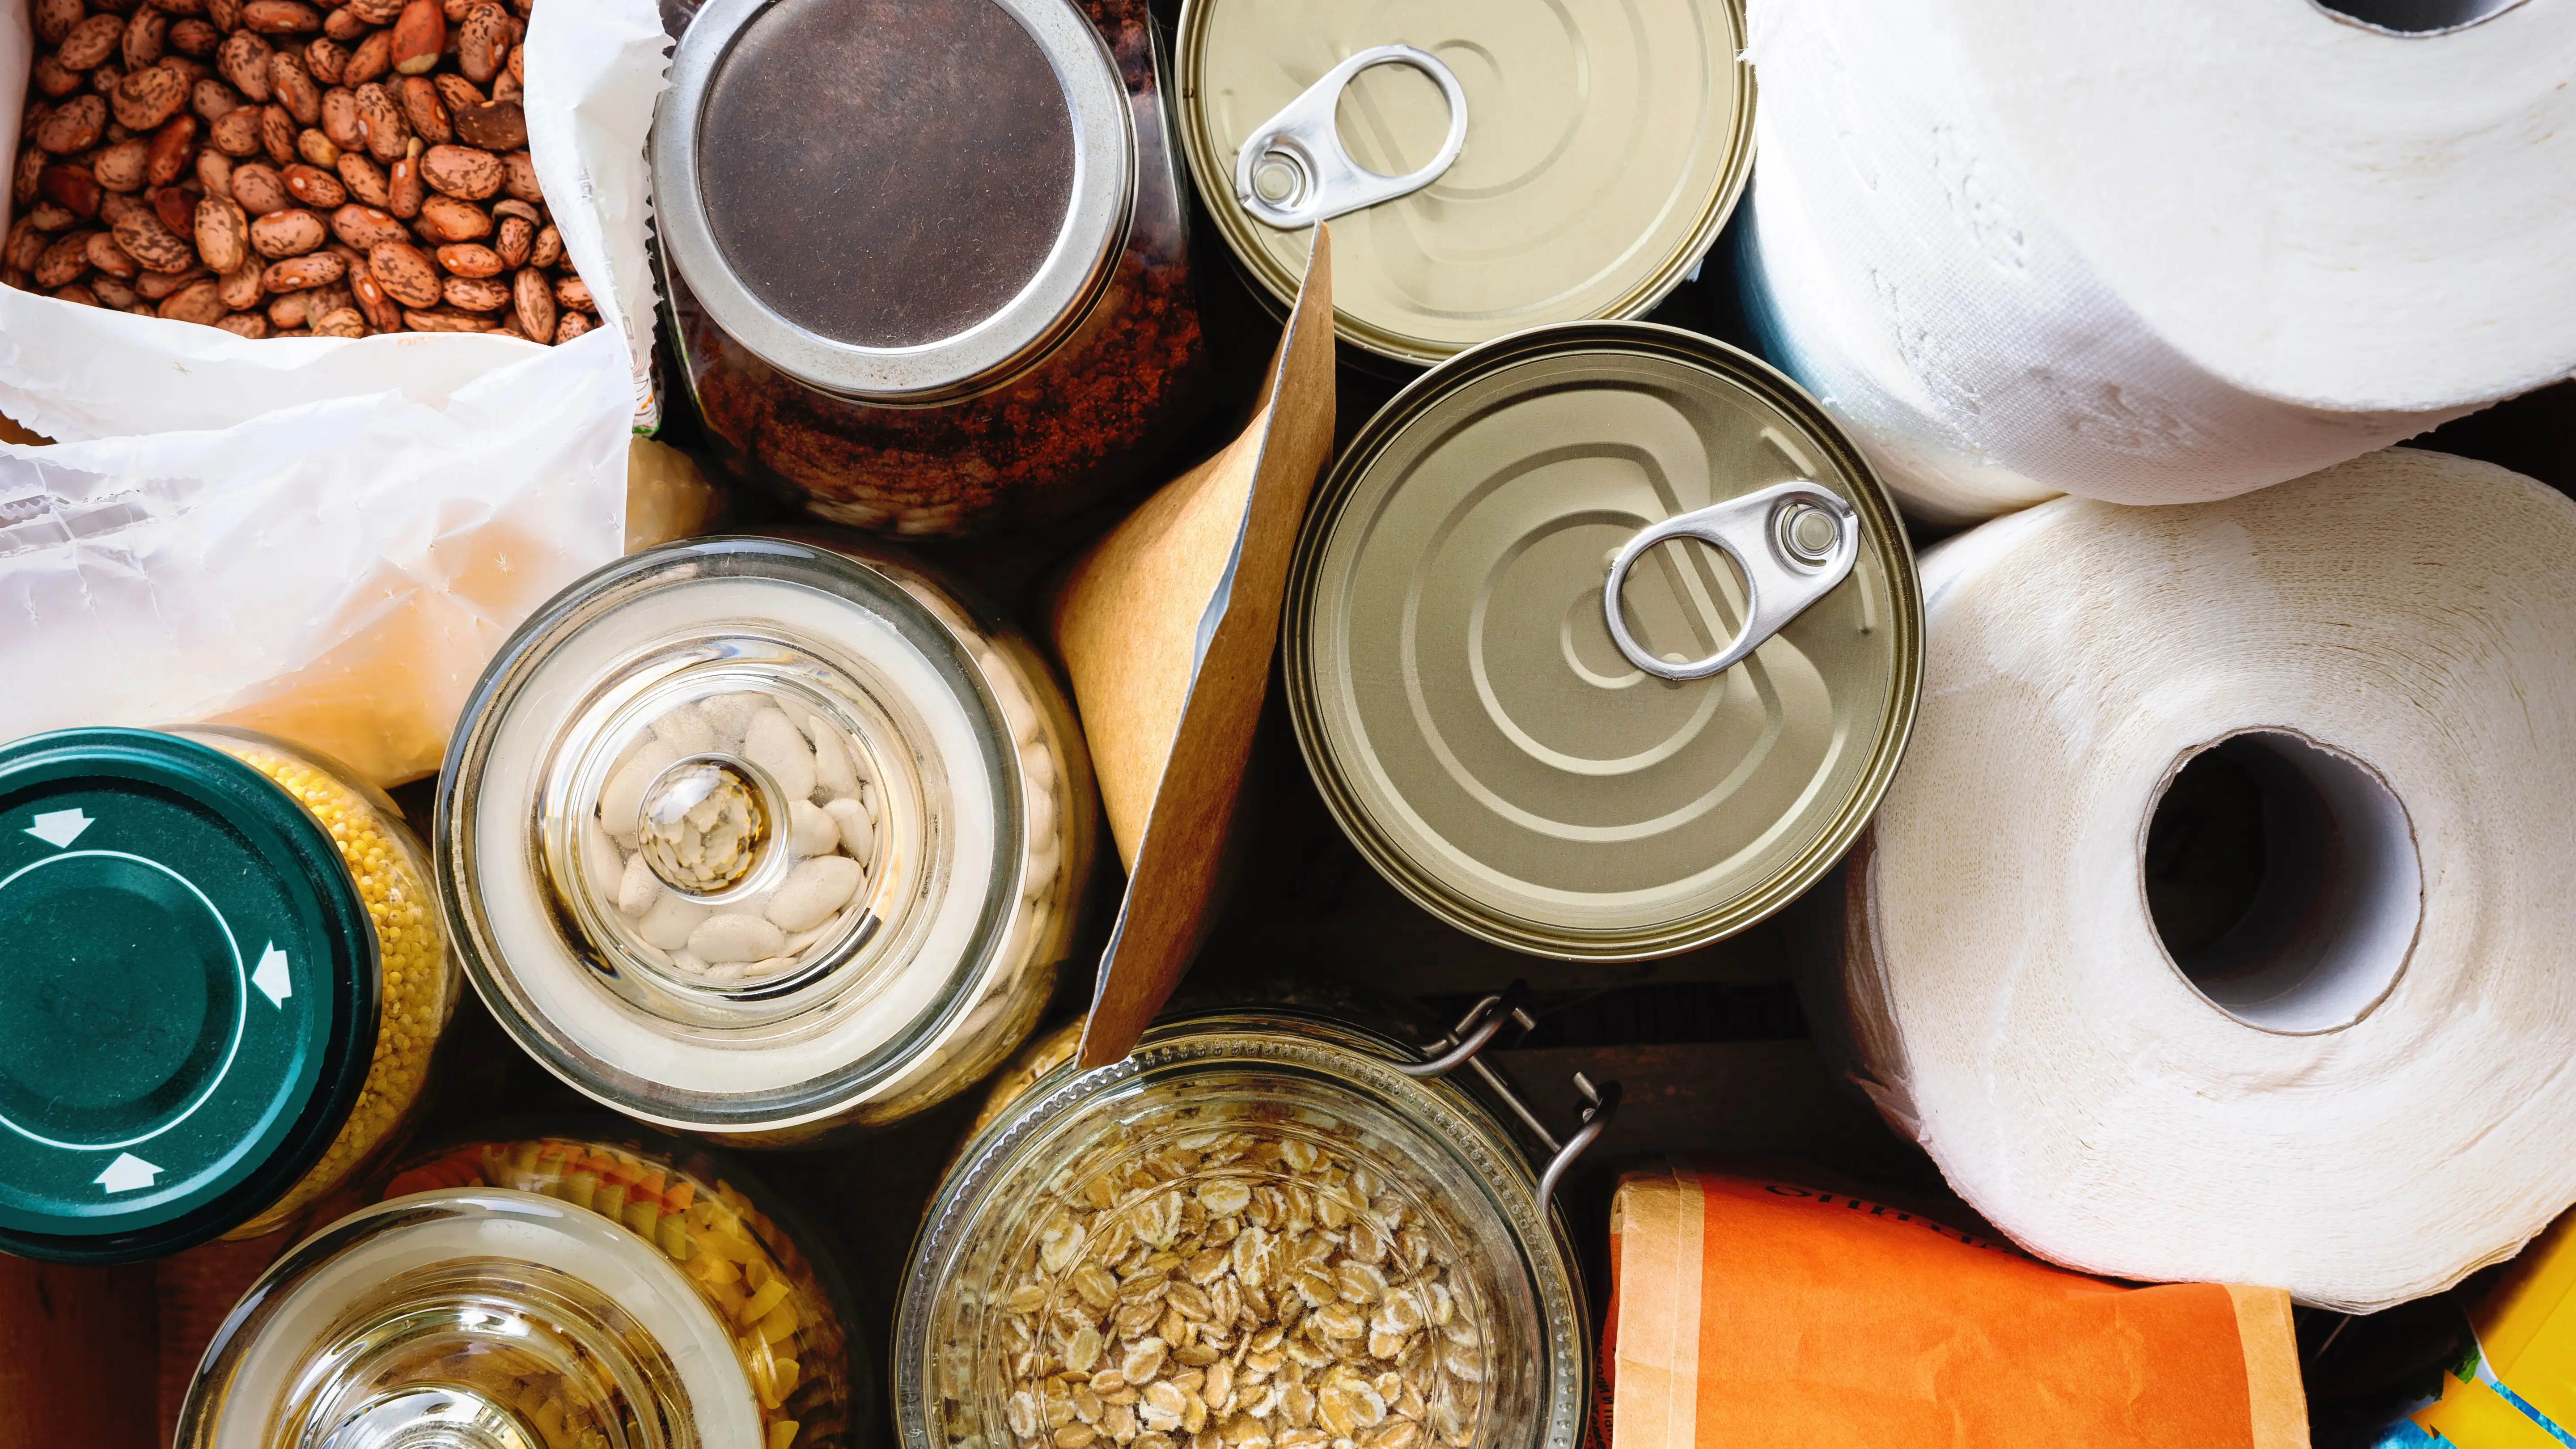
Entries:
{"type": "Polygon", "coordinates": [[[652,173],[667,260],[724,333],[822,392],[938,402],[1097,299],[1136,131],[1069,0],[714,0],[652,173]]]}

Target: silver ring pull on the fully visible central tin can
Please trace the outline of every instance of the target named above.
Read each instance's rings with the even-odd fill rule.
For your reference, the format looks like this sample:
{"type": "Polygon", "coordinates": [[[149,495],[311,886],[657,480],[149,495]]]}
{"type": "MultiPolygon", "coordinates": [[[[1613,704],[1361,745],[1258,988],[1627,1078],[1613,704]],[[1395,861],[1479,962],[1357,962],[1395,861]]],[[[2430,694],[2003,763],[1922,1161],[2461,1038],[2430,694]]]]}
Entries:
{"type": "Polygon", "coordinates": [[[1628,655],[1631,665],[1654,678],[1708,678],[1744,663],[1790,619],[1806,614],[1811,603],[1852,575],[1857,559],[1860,516],[1842,495],[1808,480],[1775,482],[1744,498],[1692,508],[1641,529],[1610,559],[1610,580],[1602,583],[1602,616],[1610,621],[1610,639],[1618,652],[1628,655]],[[1646,549],[1672,539],[1713,544],[1744,570],[1744,627],[1705,660],[1659,660],[1628,632],[1628,614],[1620,603],[1628,570],[1646,557],[1646,549]]]}

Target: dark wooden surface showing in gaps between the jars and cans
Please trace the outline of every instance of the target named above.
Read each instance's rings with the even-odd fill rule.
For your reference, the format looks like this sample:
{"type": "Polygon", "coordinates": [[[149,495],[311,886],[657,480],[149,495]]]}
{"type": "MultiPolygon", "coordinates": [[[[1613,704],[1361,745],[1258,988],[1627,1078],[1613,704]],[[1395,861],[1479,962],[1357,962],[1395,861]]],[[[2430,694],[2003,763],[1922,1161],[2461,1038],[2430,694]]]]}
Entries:
{"type": "MultiPolygon", "coordinates": [[[[1723,271],[1731,245],[1721,240],[1713,255],[1718,260],[1710,263],[1708,281],[1685,286],[1656,320],[1741,343],[1734,284],[1723,271]]],[[[1182,449],[1185,459],[1213,451],[1242,428],[1278,338],[1278,325],[1229,281],[1224,266],[1206,266],[1200,276],[1211,284],[1208,330],[1231,400],[1200,428],[1200,446],[1182,449]]],[[[1394,384],[1383,376],[1345,366],[1337,436],[1347,438],[1391,392],[1394,384]]],[[[675,425],[675,441],[688,443],[685,420],[675,425]]],[[[2452,423],[2429,436],[2427,446],[2488,456],[2571,490],[2576,384],[2452,423]]],[[[1054,570],[1131,503],[1110,503],[1041,536],[935,544],[922,552],[974,575],[1038,637],[1036,603],[1054,570]]],[[[757,526],[757,505],[750,505],[737,526],[757,526]]],[[[1965,1209],[1945,1201],[1932,1163],[1837,1088],[1806,1042],[1785,985],[1790,933],[1777,920],[1700,951],[1636,964],[1543,962],[1471,941],[1412,908],[1360,861],[1324,815],[1275,704],[1278,688],[1270,694],[1273,706],[1262,717],[1247,773],[1252,846],[1188,987],[1314,972],[1363,985],[1425,1018],[1445,1018],[1486,990],[1528,980],[1540,1026],[1528,1047],[1507,1047],[1499,1060],[1538,1106],[1571,1119],[1569,1080],[1577,1070],[1597,1083],[1615,1078],[1625,1085],[1618,1122],[1566,1189],[1574,1230],[1587,1258],[1595,1258],[1595,1297],[1602,1292],[1597,1253],[1605,1245],[1610,1183],[1623,1163],[1654,1155],[1788,1163],[1819,1178],[1865,1183],[1888,1199],[1935,1204],[1935,1212],[1971,1222],[1965,1209]]],[[[399,794],[428,825],[428,786],[399,794]]],[[[1103,856],[1110,851],[1103,848],[1103,856]]],[[[1095,905],[1115,902],[1115,861],[1105,861],[1092,890],[1095,905]]],[[[1084,972],[1097,959],[1105,926],[1108,910],[1095,910],[1092,936],[1059,985],[1059,1018],[1087,995],[1084,972]]],[[[459,1013],[440,1073],[438,1109],[425,1129],[433,1137],[471,1129],[505,1111],[585,1106],[520,1055],[471,998],[459,1013]]],[[[971,1114],[974,1093],[855,1147],[755,1160],[757,1176],[804,1209],[819,1225],[824,1248],[845,1263],[863,1305],[858,1330],[878,1372],[914,1225],[971,1114]]],[[[270,1238],[209,1245],[160,1266],[85,1271],[0,1258],[0,1446],[167,1444],[178,1397],[206,1341],[283,1248],[283,1238],[270,1238]]],[[[2437,1348],[2427,1343],[2450,1330],[2437,1310],[2383,1320],[2347,1336],[2334,1351],[2334,1374],[2313,1385],[2334,1395],[2367,1392],[2396,1372],[2383,1364],[2429,1361],[2427,1354],[2437,1348]]],[[[2303,1325],[2311,1348],[2324,1341],[2326,1328],[2331,1325],[2303,1325]]],[[[884,1415],[871,1423],[884,1444],[884,1415]]]]}

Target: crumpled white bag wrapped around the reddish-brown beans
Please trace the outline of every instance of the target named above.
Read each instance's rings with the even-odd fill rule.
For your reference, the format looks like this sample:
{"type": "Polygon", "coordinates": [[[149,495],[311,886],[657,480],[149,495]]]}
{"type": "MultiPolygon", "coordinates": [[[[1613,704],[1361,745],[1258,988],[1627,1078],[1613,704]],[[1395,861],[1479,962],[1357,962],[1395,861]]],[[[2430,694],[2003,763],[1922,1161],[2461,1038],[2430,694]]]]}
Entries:
{"type": "MultiPolygon", "coordinates": [[[[0,155],[26,88],[0,0],[0,155]]],[[[600,327],[247,340],[0,289],[0,737],[224,719],[394,784],[484,660],[618,557],[652,420],[649,0],[541,0],[528,150],[600,327]]],[[[5,206],[0,196],[0,206],[5,206]]]]}

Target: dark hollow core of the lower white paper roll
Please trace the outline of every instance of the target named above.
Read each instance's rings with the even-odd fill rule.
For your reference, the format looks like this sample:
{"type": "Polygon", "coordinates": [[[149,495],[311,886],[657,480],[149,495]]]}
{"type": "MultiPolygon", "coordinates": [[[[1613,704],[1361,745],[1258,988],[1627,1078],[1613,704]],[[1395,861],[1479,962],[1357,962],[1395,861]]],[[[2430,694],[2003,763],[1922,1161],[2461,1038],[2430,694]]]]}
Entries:
{"type": "Polygon", "coordinates": [[[2182,755],[2148,815],[2141,874],[2182,980],[2264,1031],[2367,1016],[2424,913],[2398,797],[2362,761],[2285,730],[2182,755]]]}

